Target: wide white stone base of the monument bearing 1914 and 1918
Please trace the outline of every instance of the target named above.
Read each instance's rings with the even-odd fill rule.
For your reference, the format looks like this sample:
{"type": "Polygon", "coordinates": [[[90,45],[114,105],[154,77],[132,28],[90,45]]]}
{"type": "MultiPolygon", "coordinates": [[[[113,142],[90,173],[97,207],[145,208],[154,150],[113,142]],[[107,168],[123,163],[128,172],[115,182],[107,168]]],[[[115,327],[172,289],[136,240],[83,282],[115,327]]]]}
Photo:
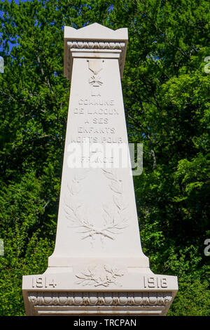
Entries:
{"type": "Polygon", "coordinates": [[[24,276],[26,315],[167,314],[178,290],[175,276],[155,275],[149,268],[127,274],[109,265],[102,269],[92,266],[75,275],[69,268],[48,268],[43,275],[24,276]]]}

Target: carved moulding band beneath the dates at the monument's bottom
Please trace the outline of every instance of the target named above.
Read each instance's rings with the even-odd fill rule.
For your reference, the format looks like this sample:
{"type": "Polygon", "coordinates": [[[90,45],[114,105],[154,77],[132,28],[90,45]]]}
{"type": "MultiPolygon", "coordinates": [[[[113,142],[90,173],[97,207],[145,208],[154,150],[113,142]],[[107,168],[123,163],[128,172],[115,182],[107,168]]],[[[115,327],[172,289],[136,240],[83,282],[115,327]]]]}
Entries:
{"type": "Polygon", "coordinates": [[[166,315],[173,293],[31,291],[30,315],[166,315]]]}

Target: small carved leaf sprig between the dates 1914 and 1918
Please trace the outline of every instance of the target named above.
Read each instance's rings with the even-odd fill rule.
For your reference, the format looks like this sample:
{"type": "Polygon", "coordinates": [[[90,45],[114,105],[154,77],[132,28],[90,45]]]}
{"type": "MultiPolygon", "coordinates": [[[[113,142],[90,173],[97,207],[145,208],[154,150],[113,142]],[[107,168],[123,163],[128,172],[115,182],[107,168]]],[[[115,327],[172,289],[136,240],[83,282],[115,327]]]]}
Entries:
{"type": "Polygon", "coordinates": [[[102,266],[102,270],[98,272],[97,265],[90,265],[86,270],[80,272],[80,274],[75,275],[78,281],[75,284],[82,284],[83,286],[94,285],[94,286],[109,286],[110,284],[116,284],[122,286],[117,282],[118,277],[124,275],[123,270],[118,270],[118,268],[113,268],[110,265],[102,266]]]}

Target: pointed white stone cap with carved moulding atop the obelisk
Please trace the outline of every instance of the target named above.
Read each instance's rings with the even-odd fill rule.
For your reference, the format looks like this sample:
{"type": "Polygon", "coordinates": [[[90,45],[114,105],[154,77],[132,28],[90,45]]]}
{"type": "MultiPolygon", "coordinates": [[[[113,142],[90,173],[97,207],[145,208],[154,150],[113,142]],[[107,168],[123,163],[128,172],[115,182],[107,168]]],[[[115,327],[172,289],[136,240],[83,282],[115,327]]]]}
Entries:
{"type": "Polygon", "coordinates": [[[98,23],[80,29],[64,27],[64,77],[71,80],[73,57],[111,58],[116,53],[123,78],[127,40],[127,27],[113,30],[98,23]]]}

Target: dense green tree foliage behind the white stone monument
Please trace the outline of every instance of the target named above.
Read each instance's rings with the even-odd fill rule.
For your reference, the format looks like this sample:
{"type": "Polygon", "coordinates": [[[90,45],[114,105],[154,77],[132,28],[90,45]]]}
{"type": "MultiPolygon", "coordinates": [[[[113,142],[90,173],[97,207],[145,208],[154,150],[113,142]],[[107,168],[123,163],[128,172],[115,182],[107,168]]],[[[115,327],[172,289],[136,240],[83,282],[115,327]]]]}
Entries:
{"type": "Polygon", "coordinates": [[[0,1],[0,315],[24,315],[22,275],[42,273],[55,242],[70,84],[64,25],[128,27],[123,95],[151,268],[177,275],[169,315],[209,314],[209,1],[0,1]],[[10,44],[13,44],[11,48],[10,44]]]}

